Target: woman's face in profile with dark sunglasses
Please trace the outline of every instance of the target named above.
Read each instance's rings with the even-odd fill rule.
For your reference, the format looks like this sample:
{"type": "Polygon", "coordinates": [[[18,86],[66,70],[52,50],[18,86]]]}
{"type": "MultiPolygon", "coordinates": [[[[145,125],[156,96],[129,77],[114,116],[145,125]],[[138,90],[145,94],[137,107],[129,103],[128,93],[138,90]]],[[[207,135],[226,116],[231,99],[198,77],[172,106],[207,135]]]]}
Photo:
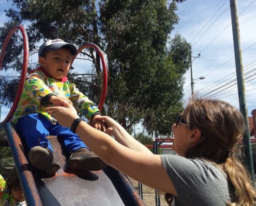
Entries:
{"type": "Polygon", "coordinates": [[[182,157],[185,157],[186,151],[191,147],[190,137],[193,135],[192,130],[186,125],[182,116],[179,116],[177,122],[172,125],[174,140],[172,149],[182,157]]]}

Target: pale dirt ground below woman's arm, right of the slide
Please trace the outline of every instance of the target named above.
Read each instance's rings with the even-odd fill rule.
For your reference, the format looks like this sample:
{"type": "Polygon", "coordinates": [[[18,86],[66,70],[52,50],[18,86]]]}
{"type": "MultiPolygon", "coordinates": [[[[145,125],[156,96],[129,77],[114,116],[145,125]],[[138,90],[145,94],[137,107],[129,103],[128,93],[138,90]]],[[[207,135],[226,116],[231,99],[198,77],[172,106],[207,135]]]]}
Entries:
{"type": "MultiPolygon", "coordinates": [[[[130,178],[130,180],[131,180],[133,186],[135,187],[135,189],[139,193],[138,182],[134,181],[131,178],[130,178]]],[[[153,188],[150,188],[150,187],[146,186],[146,185],[142,185],[142,191],[143,191],[143,201],[145,202],[145,204],[147,206],[156,206],[155,190],[153,188]]],[[[160,205],[161,206],[168,206],[167,202],[165,202],[165,200],[164,200],[163,195],[160,196],[160,205]]]]}

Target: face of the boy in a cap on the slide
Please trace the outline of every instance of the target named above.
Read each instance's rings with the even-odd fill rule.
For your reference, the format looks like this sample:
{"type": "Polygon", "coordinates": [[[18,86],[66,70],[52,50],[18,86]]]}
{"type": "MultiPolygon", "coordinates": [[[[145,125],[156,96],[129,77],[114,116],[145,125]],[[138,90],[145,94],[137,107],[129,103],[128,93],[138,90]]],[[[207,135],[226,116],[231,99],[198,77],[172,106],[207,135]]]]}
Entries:
{"type": "Polygon", "coordinates": [[[62,79],[68,74],[72,60],[71,51],[60,48],[55,52],[48,52],[46,58],[39,57],[39,64],[54,79],[62,79]]]}

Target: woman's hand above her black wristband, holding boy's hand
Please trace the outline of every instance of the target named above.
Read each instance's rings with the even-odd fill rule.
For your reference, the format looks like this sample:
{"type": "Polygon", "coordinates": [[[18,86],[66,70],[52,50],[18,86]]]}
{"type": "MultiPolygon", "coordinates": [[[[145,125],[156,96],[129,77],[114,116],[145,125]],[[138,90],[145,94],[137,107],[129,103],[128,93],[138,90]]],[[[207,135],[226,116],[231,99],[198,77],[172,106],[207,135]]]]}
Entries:
{"type": "Polygon", "coordinates": [[[55,118],[60,125],[70,128],[74,119],[79,118],[79,116],[76,109],[74,109],[68,101],[64,100],[63,106],[64,107],[48,107],[44,110],[55,118]]]}

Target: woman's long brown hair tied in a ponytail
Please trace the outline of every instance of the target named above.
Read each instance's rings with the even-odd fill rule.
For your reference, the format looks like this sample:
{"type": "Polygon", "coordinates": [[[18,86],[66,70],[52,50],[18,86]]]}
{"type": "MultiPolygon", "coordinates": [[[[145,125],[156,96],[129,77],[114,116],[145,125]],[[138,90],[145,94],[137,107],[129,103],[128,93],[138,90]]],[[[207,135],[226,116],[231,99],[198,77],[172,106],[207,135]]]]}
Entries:
{"type": "MultiPolygon", "coordinates": [[[[237,143],[243,138],[243,115],[227,102],[213,99],[191,99],[182,114],[189,129],[199,129],[204,141],[191,148],[186,158],[201,158],[221,168],[234,188],[232,203],[255,205],[256,190],[249,173],[237,158],[237,143]]],[[[173,196],[165,194],[170,204],[173,196]]]]}

